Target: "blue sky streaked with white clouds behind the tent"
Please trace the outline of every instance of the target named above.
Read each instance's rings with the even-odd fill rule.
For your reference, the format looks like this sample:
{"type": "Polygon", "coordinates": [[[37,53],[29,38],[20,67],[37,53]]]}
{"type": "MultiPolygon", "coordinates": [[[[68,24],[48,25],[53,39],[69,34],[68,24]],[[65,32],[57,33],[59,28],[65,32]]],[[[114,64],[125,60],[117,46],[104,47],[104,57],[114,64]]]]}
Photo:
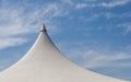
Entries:
{"type": "Polygon", "coordinates": [[[131,80],[131,0],[0,0],[0,70],[46,24],[57,47],[88,70],[131,80]]]}

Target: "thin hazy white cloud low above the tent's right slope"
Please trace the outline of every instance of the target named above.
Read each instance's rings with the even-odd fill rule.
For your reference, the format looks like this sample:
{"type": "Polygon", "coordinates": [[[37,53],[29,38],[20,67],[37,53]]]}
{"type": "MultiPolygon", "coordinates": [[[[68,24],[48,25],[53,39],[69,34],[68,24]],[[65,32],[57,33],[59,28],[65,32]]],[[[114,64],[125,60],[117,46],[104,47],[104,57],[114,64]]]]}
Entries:
{"type": "Polygon", "coordinates": [[[68,54],[71,60],[87,69],[131,67],[131,62],[127,61],[131,59],[131,55],[124,51],[112,52],[107,48],[75,48],[68,51],[68,54]]]}

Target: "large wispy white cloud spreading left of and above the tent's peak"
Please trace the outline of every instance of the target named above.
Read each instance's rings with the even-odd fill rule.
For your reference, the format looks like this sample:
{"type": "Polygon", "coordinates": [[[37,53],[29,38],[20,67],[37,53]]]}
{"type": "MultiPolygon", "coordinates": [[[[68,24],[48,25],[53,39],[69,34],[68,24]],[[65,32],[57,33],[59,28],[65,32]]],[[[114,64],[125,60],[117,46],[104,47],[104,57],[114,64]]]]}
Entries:
{"type": "Polygon", "coordinates": [[[29,4],[29,8],[33,9],[26,4],[21,7],[11,5],[7,1],[2,3],[0,8],[0,49],[26,43],[28,39],[21,35],[35,33],[41,23],[46,23],[48,30],[55,31],[57,26],[53,25],[53,19],[67,14],[60,3],[53,2],[40,7],[29,4]]]}

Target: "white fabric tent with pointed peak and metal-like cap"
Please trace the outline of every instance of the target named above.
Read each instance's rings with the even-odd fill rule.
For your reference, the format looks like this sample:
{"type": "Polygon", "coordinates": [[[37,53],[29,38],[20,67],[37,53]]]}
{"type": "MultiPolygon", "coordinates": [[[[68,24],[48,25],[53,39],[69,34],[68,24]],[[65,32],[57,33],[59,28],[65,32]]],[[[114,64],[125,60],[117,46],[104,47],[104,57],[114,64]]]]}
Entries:
{"type": "Polygon", "coordinates": [[[31,50],[0,73],[0,82],[128,82],[87,71],[68,60],[52,44],[45,25],[31,50]]]}

